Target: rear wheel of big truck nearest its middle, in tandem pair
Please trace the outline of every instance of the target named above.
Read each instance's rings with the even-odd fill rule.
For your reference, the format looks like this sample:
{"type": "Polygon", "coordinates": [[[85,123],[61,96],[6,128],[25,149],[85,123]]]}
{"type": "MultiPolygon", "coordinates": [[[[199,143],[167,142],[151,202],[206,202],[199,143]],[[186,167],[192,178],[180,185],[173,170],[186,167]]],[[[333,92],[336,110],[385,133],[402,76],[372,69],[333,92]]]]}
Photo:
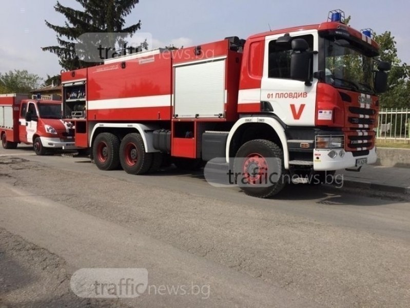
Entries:
{"type": "Polygon", "coordinates": [[[152,153],[145,152],[144,141],[139,133],[129,133],[121,141],[121,166],[128,174],[146,174],[152,165],[152,153]]]}

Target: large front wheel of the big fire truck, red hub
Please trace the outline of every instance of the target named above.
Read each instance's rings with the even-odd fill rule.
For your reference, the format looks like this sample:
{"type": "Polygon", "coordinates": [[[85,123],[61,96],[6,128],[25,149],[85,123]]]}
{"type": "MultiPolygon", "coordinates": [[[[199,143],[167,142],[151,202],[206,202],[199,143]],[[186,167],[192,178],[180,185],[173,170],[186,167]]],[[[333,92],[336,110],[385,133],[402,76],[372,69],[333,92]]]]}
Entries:
{"type": "Polygon", "coordinates": [[[287,183],[283,151],[268,140],[257,139],[243,144],[236,154],[233,170],[237,184],[252,197],[274,196],[287,183]]]}

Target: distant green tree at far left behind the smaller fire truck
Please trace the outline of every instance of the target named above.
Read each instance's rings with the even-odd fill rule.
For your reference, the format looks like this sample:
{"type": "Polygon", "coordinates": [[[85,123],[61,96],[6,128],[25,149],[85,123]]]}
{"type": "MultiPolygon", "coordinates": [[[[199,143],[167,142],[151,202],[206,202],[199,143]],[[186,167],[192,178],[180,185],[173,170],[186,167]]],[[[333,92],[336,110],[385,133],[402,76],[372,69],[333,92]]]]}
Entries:
{"type": "Polygon", "coordinates": [[[14,70],[0,73],[0,91],[3,93],[29,93],[36,89],[42,79],[27,70],[14,70]]]}

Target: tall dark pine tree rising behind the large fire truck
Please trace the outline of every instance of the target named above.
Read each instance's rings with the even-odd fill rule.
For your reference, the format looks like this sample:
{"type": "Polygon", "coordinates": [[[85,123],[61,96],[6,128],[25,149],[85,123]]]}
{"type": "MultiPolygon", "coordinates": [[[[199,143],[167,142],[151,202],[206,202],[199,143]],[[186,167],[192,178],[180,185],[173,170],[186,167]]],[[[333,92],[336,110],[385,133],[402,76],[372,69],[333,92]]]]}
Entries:
{"type": "Polygon", "coordinates": [[[139,3],[139,0],[75,0],[83,10],[65,7],[57,1],[54,6],[56,12],[66,17],[64,26],[52,25],[47,27],[57,33],[58,46],[42,47],[43,51],[50,51],[59,57],[60,65],[66,70],[93,66],[95,63],[79,59],[75,53],[74,44],[84,33],[116,32],[135,33],[141,29],[141,21],[125,27],[125,17],[139,3]]]}

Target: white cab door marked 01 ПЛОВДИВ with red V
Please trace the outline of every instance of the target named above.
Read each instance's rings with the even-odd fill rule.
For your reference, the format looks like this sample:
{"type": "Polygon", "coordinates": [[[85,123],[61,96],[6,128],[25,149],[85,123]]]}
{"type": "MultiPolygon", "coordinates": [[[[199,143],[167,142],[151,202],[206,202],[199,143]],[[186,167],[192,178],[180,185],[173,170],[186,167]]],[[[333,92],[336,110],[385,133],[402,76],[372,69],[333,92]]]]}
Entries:
{"type": "MultiPolygon", "coordinates": [[[[289,33],[293,38],[304,38],[310,50],[318,50],[318,34],[313,30],[289,33]]],[[[317,80],[306,86],[303,81],[290,79],[290,43],[277,43],[282,36],[266,37],[265,61],[261,86],[261,101],[269,102],[273,112],[287,125],[314,126],[317,80]]],[[[318,55],[313,56],[311,75],[318,69],[318,55]]]]}

